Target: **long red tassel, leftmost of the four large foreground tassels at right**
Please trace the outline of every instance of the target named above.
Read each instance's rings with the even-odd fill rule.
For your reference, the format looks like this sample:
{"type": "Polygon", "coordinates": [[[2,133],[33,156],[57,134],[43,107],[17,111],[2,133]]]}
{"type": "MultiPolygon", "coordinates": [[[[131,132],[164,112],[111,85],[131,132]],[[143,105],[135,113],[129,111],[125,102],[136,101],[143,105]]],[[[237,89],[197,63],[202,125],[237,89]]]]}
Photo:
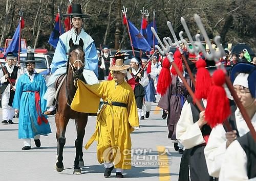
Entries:
{"type": "Polygon", "coordinates": [[[158,77],[157,92],[161,95],[165,94],[171,83],[172,77],[170,76],[170,62],[166,57],[163,60],[163,67],[158,77]]]}

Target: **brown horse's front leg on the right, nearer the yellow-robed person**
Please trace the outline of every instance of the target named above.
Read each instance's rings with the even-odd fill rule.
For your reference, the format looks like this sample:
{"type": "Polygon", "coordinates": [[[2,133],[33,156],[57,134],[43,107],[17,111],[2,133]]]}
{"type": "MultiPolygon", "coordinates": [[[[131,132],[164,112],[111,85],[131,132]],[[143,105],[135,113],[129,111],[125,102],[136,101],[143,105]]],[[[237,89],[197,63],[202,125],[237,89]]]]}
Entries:
{"type": "Polygon", "coordinates": [[[75,161],[74,161],[74,174],[81,174],[80,167],[84,166],[84,162],[82,159],[82,156],[83,156],[82,142],[83,142],[84,134],[86,133],[84,128],[86,127],[86,124],[87,124],[87,116],[78,118],[78,119],[76,119],[75,122],[76,122],[77,138],[75,141],[76,157],[75,157],[75,161]]]}

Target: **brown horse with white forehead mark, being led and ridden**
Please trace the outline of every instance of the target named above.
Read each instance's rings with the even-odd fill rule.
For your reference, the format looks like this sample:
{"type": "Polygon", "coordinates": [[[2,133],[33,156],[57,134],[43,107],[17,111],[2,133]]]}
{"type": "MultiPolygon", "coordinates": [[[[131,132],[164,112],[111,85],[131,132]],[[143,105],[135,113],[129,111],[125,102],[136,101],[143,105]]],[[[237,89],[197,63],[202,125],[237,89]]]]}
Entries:
{"type": "Polygon", "coordinates": [[[74,161],[74,174],[81,174],[80,167],[83,167],[83,152],[82,152],[82,142],[85,134],[85,127],[88,121],[88,114],[79,113],[73,111],[70,108],[70,104],[74,98],[76,92],[76,79],[81,79],[84,81],[82,72],[84,67],[84,52],[83,52],[83,41],[79,40],[79,45],[74,45],[72,39],[69,41],[70,50],[67,63],[66,80],[63,81],[59,89],[59,94],[57,96],[58,105],[55,117],[55,123],[57,126],[56,138],[58,142],[57,148],[57,162],[55,169],[61,172],[64,168],[63,166],[63,147],[66,143],[65,132],[69,119],[75,119],[77,138],[75,141],[76,146],[76,157],[74,161]]]}

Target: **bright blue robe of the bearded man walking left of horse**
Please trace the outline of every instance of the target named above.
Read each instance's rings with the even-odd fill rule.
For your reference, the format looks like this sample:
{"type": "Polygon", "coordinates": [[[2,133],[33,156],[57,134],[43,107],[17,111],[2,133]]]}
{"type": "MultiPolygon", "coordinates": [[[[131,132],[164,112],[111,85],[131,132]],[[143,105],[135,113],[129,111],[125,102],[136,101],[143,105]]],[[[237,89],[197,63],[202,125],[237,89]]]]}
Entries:
{"type": "Polygon", "coordinates": [[[46,100],[42,97],[44,97],[46,90],[45,79],[40,74],[36,73],[32,82],[30,82],[27,73],[19,77],[12,104],[13,108],[19,110],[18,138],[34,138],[35,135],[47,136],[47,134],[52,133],[49,122],[42,121],[41,125],[37,123],[35,92],[26,92],[39,92],[39,105],[42,113],[44,113],[46,100]]]}

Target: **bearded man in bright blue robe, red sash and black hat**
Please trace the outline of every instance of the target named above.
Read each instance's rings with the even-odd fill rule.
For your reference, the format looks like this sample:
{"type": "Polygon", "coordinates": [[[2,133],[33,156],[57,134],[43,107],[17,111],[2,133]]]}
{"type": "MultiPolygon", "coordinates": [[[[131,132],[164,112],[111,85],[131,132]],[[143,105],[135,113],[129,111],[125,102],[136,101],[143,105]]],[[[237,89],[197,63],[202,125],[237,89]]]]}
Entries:
{"type": "Polygon", "coordinates": [[[27,73],[21,75],[16,84],[12,107],[19,112],[18,138],[24,140],[23,150],[31,149],[31,138],[36,147],[40,147],[40,135],[52,133],[45,115],[46,82],[42,75],[35,71],[34,53],[27,54],[25,61],[27,73]]]}

